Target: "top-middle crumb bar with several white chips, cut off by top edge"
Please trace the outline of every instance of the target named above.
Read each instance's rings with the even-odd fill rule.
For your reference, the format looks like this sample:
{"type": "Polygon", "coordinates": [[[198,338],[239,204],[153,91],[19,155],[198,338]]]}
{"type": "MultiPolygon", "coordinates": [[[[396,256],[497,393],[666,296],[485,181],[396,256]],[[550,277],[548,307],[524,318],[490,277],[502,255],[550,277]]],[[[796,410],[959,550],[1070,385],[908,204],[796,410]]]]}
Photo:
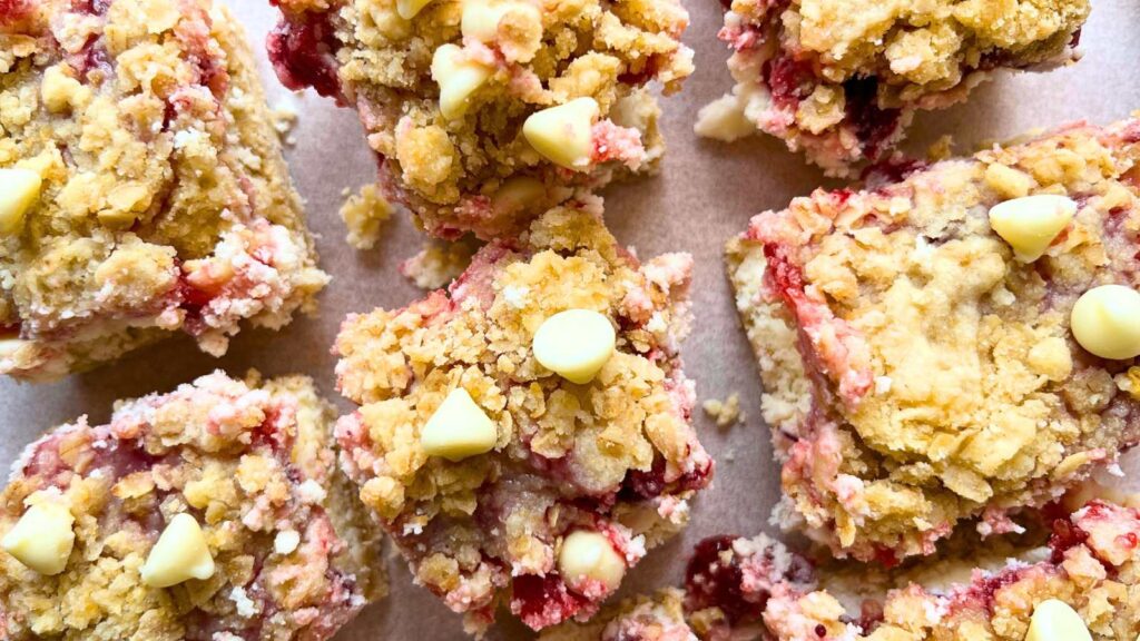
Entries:
{"type": "Polygon", "coordinates": [[[692,73],[677,0],[275,0],[286,87],[356,107],[427,233],[513,235],[663,152],[656,81],[692,73]]]}

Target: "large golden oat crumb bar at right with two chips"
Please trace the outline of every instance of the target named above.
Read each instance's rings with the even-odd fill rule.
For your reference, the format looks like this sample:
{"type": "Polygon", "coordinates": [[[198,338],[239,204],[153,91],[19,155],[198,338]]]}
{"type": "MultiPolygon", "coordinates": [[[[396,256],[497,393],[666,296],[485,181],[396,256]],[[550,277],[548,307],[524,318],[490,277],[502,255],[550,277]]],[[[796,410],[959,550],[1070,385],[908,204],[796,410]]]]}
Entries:
{"type": "Polygon", "coordinates": [[[928,554],[966,519],[1016,530],[1140,439],[1135,359],[1069,331],[1089,289],[1140,286],[1138,159],[1140,121],[1077,124],[752,219],[728,269],[784,524],[840,555],[928,554]],[[987,212],[1031,193],[1078,211],[1025,263],[987,212]]]}

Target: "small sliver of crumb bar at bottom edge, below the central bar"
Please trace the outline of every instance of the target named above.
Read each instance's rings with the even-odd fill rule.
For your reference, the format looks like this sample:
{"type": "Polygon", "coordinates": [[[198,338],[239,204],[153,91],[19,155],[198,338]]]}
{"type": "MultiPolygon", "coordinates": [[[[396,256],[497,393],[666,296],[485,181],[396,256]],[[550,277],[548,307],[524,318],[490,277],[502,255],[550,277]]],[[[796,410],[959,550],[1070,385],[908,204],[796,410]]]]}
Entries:
{"type": "Polygon", "coordinates": [[[588,623],[567,622],[538,641],[695,641],[685,622],[684,592],[675,587],[606,606],[588,623]]]}

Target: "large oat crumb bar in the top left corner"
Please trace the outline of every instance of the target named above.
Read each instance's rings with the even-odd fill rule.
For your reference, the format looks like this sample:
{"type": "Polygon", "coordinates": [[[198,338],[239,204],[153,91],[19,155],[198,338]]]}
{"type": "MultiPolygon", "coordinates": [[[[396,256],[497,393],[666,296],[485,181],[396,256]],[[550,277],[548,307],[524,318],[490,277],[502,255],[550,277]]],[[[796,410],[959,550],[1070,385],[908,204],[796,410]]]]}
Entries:
{"type": "Polygon", "coordinates": [[[0,373],[178,331],[221,355],[326,281],[225,7],[0,2],[0,373]]]}

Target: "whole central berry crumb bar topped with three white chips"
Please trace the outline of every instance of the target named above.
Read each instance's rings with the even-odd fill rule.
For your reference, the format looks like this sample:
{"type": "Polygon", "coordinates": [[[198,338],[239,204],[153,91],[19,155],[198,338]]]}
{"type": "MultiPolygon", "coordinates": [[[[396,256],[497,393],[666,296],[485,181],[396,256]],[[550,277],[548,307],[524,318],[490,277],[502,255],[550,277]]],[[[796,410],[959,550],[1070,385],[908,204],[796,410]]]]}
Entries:
{"type": "Polygon", "coordinates": [[[472,632],[585,618],[686,521],[712,461],[690,422],[692,257],[644,263],[598,198],[482,248],[447,292],[350,316],[335,350],[360,408],[341,462],[416,581],[472,632]]]}

